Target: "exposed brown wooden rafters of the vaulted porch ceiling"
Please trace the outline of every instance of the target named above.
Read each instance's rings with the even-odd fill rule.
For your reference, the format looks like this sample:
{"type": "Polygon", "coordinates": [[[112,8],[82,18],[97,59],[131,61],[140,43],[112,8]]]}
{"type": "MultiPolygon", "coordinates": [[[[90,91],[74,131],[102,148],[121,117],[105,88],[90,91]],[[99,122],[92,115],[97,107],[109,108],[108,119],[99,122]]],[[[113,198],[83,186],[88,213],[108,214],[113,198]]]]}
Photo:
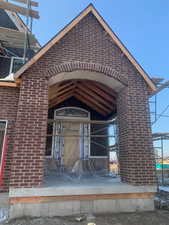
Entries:
{"type": "Polygon", "coordinates": [[[111,88],[93,81],[66,81],[49,88],[49,108],[75,97],[101,115],[116,110],[117,93],[111,88]]]}

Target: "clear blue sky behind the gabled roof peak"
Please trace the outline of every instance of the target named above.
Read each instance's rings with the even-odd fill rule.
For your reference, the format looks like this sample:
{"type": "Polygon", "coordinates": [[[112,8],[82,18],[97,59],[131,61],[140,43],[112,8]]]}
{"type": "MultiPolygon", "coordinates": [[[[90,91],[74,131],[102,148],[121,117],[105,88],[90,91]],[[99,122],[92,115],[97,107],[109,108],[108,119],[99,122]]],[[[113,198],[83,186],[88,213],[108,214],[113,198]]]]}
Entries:
{"type": "MultiPolygon", "coordinates": [[[[109,26],[151,77],[169,80],[169,0],[39,0],[40,19],[33,33],[42,45],[93,3],[109,26]]],[[[158,97],[158,113],[169,104],[169,89],[158,97]]],[[[165,114],[169,115],[169,109],[165,114]]],[[[154,132],[169,132],[160,118],[154,132]]]]}

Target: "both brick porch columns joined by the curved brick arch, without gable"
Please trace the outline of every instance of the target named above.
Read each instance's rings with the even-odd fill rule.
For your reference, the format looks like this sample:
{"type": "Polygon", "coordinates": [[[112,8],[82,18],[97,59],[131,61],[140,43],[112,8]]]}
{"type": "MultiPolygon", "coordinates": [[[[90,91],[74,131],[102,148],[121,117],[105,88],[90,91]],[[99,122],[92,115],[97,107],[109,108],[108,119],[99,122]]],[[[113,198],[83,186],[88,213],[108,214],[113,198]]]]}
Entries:
{"type": "MultiPolygon", "coordinates": [[[[101,73],[122,85],[117,100],[119,156],[123,182],[149,185],[155,182],[153,146],[148,109],[148,90],[136,74],[127,80],[114,69],[94,63],[69,62],[43,73],[23,74],[16,122],[16,138],[11,171],[11,186],[33,187],[43,180],[48,84],[61,73],[73,71],[101,73]],[[143,142],[144,140],[144,142],[143,142]]],[[[85,77],[84,77],[85,79],[85,77]]]]}

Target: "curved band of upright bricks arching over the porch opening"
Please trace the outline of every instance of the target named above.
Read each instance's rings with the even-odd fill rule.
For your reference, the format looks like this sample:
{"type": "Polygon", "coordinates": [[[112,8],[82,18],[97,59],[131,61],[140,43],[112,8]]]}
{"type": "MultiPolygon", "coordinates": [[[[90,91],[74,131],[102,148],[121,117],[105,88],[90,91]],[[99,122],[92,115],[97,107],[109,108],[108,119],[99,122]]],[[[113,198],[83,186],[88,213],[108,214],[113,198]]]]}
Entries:
{"type": "Polygon", "coordinates": [[[110,66],[105,66],[98,63],[88,63],[88,62],[67,62],[60,65],[55,65],[47,71],[47,77],[50,78],[56,76],[62,72],[73,72],[76,70],[88,70],[93,72],[98,72],[105,74],[110,78],[114,78],[119,81],[122,85],[127,85],[127,79],[115,69],[112,69],[110,66]]]}

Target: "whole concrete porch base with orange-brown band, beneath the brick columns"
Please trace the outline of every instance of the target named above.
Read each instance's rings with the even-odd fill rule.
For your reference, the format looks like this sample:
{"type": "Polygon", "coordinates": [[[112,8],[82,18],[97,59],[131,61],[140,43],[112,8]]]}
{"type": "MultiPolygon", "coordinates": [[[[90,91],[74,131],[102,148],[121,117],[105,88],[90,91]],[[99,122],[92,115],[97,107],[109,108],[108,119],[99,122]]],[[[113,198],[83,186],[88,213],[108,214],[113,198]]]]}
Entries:
{"type": "Polygon", "coordinates": [[[156,186],[132,186],[119,179],[39,188],[10,188],[10,218],[154,210],[156,186]]]}

